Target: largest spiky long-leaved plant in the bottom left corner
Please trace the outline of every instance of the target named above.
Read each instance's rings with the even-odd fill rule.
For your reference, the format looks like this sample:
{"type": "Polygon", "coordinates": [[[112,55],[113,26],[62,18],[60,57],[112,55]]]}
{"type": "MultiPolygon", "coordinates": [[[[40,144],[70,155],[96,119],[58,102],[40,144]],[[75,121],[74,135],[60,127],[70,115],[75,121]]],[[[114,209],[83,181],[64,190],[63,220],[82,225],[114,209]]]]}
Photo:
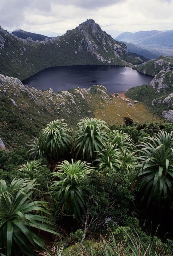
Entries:
{"type": "Polygon", "coordinates": [[[18,255],[19,251],[35,255],[32,248],[46,249],[40,230],[57,234],[45,217],[50,213],[41,207],[46,202],[31,199],[35,186],[27,179],[13,179],[9,187],[0,180],[0,251],[7,256],[18,255]]]}

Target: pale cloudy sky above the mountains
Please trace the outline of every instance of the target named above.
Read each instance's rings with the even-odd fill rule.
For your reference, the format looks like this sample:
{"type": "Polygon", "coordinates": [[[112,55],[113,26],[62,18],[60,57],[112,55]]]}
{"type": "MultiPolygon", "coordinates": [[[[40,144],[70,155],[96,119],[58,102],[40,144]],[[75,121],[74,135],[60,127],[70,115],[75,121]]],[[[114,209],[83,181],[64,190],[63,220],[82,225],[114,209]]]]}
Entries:
{"type": "Polygon", "coordinates": [[[8,31],[49,36],[89,18],[112,36],[117,30],[171,30],[173,0],[0,0],[0,26],[8,31]]]}

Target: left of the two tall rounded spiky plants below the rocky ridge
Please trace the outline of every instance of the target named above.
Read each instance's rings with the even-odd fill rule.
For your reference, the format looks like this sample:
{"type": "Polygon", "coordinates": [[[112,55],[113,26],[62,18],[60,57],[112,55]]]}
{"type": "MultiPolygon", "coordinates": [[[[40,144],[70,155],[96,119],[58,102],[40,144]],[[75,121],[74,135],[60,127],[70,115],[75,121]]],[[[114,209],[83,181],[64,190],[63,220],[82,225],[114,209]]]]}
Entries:
{"type": "Polygon", "coordinates": [[[50,160],[59,160],[70,151],[71,136],[64,120],[54,120],[41,130],[44,155],[50,160]]]}

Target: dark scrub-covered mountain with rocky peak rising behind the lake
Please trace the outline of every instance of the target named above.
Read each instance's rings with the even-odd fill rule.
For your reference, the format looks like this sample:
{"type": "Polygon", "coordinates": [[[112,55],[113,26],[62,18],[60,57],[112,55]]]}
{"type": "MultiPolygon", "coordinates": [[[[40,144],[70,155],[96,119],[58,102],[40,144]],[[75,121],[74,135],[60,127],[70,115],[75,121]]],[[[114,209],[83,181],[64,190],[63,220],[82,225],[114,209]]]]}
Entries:
{"type": "Polygon", "coordinates": [[[127,47],[102,31],[93,19],[46,41],[20,39],[0,27],[0,73],[23,80],[50,67],[118,65],[143,62],[129,55],[127,47]],[[129,63],[130,62],[130,63],[129,63]]]}

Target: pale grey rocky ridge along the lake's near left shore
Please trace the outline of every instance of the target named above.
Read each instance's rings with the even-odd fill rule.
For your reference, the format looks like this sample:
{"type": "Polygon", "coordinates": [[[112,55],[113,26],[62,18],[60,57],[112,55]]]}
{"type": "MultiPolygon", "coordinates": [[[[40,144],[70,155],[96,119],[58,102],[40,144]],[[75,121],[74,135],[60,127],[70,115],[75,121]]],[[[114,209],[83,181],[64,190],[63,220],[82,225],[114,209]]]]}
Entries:
{"type": "MultiPolygon", "coordinates": [[[[15,108],[30,105],[33,108],[39,106],[39,108],[46,109],[47,112],[52,112],[52,110],[56,112],[55,110],[57,110],[56,113],[64,116],[63,118],[67,120],[73,119],[71,113],[80,117],[81,108],[84,104],[88,108],[88,98],[94,98],[95,94],[98,94],[102,101],[110,99],[109,93],[102,85],[94,85],[89,89],[76,87],[72,92],[53,92],[51,88],[41,91],[23,85],[17,78],[0,75],[0,97],[9,98],[15,108]]],[[[83,110],[83,115],[88,114],[87,109],[83,110]]]]}

